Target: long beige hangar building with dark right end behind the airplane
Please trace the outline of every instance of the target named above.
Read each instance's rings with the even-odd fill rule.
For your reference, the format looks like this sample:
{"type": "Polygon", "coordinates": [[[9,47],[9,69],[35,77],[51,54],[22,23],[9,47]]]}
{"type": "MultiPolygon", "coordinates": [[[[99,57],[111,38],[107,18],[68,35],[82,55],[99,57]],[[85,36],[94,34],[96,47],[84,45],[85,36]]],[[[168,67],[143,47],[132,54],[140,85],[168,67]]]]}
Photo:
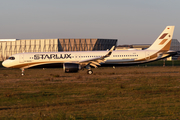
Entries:
{"type": "Polygon", "coordinates": [[[107,50],[117,39],[0,39],[0,61],[22,52],[107,50]]]}

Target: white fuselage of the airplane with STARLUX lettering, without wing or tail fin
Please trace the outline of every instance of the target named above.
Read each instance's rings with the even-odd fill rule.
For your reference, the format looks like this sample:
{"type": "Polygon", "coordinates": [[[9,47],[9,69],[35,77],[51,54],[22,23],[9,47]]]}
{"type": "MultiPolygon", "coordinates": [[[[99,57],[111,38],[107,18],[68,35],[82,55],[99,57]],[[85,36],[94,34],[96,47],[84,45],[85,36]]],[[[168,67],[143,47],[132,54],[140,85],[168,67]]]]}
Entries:
{"type": "MultiPolygon", "coordinates": [[[[9,68],[29,68],[43,64],[53,63],[79,63],[79,61],[86,61],[87,59],[94,59],[102,57],[108,51],[81,51],[81,52],[40,52],[40,53],[19,53],[13,55],[16,60],[7,59],[3,62],[3,66],[9,68]]],[[[156,50],[115,50],[111,56],[104,58],[105,62],[101,64],[134,64],[150,62],[152,60],[159,60],[169,56],[157,54],[156,50]]]]}

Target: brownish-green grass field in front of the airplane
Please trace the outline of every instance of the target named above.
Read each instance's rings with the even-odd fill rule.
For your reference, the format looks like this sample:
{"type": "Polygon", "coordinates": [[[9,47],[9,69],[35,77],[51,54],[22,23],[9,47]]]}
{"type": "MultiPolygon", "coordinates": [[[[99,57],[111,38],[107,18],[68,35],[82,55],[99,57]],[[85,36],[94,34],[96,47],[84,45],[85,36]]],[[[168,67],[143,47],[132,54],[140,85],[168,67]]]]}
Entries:
{"type": "Polygon", "coordinates": [[[0,69],[0,119],[180,119],[180,67],[0,69]]]}

